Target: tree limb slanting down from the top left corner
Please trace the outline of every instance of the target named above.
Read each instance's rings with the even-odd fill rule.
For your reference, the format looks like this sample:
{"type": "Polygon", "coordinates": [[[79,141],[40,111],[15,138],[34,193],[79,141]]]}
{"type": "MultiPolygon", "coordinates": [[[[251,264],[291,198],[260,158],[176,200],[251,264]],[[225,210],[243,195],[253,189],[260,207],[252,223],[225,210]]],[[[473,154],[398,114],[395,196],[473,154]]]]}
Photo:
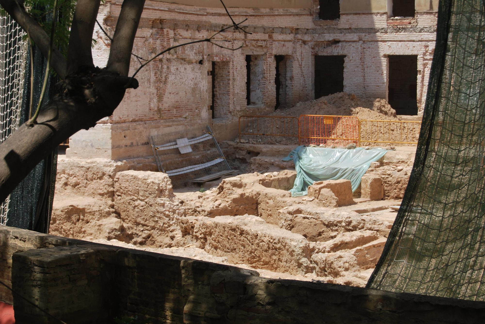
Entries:
{"type": "MultiPolygon", "coordinates": [[[[29,33],[32,41],[39,47],[42,54],[47,57],[49,55],[50,40],[44,29],[40,27],[16,0],[0,0],[0,5],[22,29],[29,33]]],[[[54,48],[52,52],[52,68],[61,79],[65,78],[67,71],[66,59],[57,48],[54,48]]]]}

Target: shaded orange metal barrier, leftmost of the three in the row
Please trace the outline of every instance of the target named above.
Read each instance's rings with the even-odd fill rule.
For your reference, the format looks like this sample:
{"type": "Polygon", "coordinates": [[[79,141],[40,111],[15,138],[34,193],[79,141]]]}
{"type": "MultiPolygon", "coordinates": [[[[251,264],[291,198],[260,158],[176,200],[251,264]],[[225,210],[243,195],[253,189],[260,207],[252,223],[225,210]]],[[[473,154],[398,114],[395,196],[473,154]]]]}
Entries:
{"type": "Polygon", "coordinates": [[[298,118],[288,116],[241,116],[241,135],[298,137],[298,118]]]}

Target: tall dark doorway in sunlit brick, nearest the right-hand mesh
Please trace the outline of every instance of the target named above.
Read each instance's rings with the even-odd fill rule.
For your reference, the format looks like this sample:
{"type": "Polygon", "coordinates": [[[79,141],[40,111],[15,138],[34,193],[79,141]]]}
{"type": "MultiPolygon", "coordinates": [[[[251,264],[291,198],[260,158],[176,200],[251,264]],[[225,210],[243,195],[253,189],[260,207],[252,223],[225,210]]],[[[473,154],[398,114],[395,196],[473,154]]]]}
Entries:
{"type": "Polygon", "coordinates": [[[389,55],[389,104],[398,115],[417,115],[418,56],[389,55]]]}

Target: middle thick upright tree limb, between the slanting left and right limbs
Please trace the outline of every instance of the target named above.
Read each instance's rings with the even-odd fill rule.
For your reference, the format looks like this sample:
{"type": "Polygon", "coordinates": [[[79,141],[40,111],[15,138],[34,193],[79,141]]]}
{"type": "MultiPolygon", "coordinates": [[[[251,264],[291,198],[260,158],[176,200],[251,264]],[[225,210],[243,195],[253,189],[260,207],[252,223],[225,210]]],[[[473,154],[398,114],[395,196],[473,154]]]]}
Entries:
{"type": "Polygon", "coordinates": [[[94,66],[91,53],[93,30],[101,0],[78,0],[69,35],[67,73],[80,66],[94,66]]]}

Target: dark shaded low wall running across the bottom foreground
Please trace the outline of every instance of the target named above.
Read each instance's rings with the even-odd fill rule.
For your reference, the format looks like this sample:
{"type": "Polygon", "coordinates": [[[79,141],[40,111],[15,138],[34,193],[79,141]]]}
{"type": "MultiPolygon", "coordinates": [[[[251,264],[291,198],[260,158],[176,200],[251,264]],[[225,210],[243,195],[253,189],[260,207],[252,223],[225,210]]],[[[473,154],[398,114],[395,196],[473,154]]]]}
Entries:
{"type": "MultiPolygon", "coordinates": [[[[0,232],[4,258],[25,250],[13,254],[14,290],[71,324],[121,316],[149,323],[465,324],[480,323],[485,312],[483,302],[265,279],[226,265],[6,226],[0,232]],[[29,243],[19,249],[22,241],[29,243]]],[[[51,323],[18,296],[14,309],[18,324],[51,323]]]]}

